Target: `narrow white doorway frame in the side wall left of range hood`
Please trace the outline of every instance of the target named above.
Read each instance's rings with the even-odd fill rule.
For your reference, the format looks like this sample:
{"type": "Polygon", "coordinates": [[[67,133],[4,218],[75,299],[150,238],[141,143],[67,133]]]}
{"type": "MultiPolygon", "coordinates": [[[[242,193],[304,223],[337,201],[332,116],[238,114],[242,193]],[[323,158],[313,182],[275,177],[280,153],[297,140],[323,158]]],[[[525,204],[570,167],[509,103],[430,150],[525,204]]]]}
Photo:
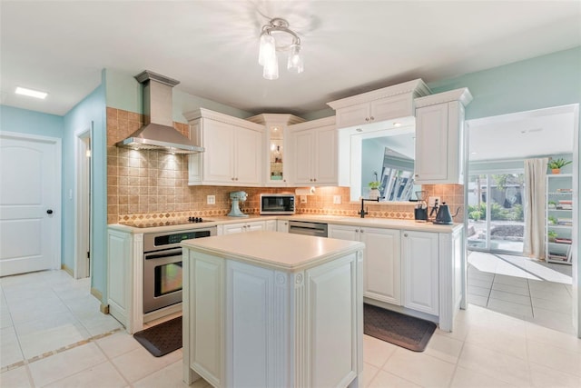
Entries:
{"type": "Polygon", "coordinates": [[[90,143],[93,139],[93,123],[75,134],[74,154],[74,278],[89,277],[91,271],[91,176],[93,175],[90,143]],[[89,260],[87,264],[87,253],[89,260]]]}

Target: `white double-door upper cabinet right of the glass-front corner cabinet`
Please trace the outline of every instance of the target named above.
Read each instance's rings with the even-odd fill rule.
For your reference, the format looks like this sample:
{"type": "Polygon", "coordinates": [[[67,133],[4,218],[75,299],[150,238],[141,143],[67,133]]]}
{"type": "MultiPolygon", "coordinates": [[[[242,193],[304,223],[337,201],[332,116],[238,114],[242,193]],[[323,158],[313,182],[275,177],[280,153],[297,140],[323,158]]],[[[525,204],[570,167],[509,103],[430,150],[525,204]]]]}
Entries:
{"type": "Polygon", "coordinates": [[[337,185],[338,144],[335,117],[289,126],[291,184],[337,185]]]}

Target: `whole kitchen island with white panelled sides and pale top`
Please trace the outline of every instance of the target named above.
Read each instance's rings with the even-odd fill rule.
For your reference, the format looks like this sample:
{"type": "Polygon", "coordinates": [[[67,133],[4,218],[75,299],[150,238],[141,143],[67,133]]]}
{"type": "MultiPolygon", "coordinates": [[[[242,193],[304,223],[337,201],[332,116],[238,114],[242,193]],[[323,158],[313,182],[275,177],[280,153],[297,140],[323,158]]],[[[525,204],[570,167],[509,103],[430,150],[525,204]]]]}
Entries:
{"type": "Polygon", "coordinates": [[[185,383],[359,385],[364,244],[249,232],[182,247],[185,383]]]}

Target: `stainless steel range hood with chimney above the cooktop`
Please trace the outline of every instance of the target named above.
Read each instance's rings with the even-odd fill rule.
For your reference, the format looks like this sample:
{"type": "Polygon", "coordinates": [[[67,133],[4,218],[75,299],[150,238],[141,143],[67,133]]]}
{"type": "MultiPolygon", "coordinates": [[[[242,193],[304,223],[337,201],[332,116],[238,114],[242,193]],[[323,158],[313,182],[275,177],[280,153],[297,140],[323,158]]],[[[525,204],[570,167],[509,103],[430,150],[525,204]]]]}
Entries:
{"type": "Polygon", "coordinates": [[[145,70],[135,79],[143,84],[143,115],[145,125],[128,138],[115,144],[118,147],[161,150],[172,154],[194,154],[204,151],[173,128],[172,87],[180,81],[145,70]]]}

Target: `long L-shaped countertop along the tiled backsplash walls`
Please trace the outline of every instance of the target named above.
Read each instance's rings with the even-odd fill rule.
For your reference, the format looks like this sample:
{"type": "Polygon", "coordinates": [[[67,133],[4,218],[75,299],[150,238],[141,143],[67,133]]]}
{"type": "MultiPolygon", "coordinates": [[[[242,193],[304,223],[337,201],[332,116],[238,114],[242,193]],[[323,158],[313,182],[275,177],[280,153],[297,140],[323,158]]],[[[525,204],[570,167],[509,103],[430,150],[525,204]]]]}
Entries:
{"type": "Polygon", "coordinates": [[[434,233],[452,233],[456,231],[458,228],[461,228],[463,226],[463,224],[437,225],[432,223],[419,223],[413,220],[396,220],[391,218],[372,218],[372,217],[360,218],[360,217],[347,217],[340,215],[325,215],[325,214],[251,215],[249,217],[229,217],[226,215],[222,215],[222,216],[212,216],[208,218],[204,217],[204,219],[209,220],[211,222],[201,224],[154,226],[150,228],[137,228],[134,226],[127,226],[123,224],[109,224],[108,226],[113,229],[122,230],[133,234],[182,231],[186,229],[198,229],[216,226],[220,224],[239,224],[239,223],[248,223],[252,221],[267,221],[267,220],[308,221],[311,223],[320,222],[326,224],[367,226],[384,229],[405,229],[412,231],[415,230],[434,233]]]}

